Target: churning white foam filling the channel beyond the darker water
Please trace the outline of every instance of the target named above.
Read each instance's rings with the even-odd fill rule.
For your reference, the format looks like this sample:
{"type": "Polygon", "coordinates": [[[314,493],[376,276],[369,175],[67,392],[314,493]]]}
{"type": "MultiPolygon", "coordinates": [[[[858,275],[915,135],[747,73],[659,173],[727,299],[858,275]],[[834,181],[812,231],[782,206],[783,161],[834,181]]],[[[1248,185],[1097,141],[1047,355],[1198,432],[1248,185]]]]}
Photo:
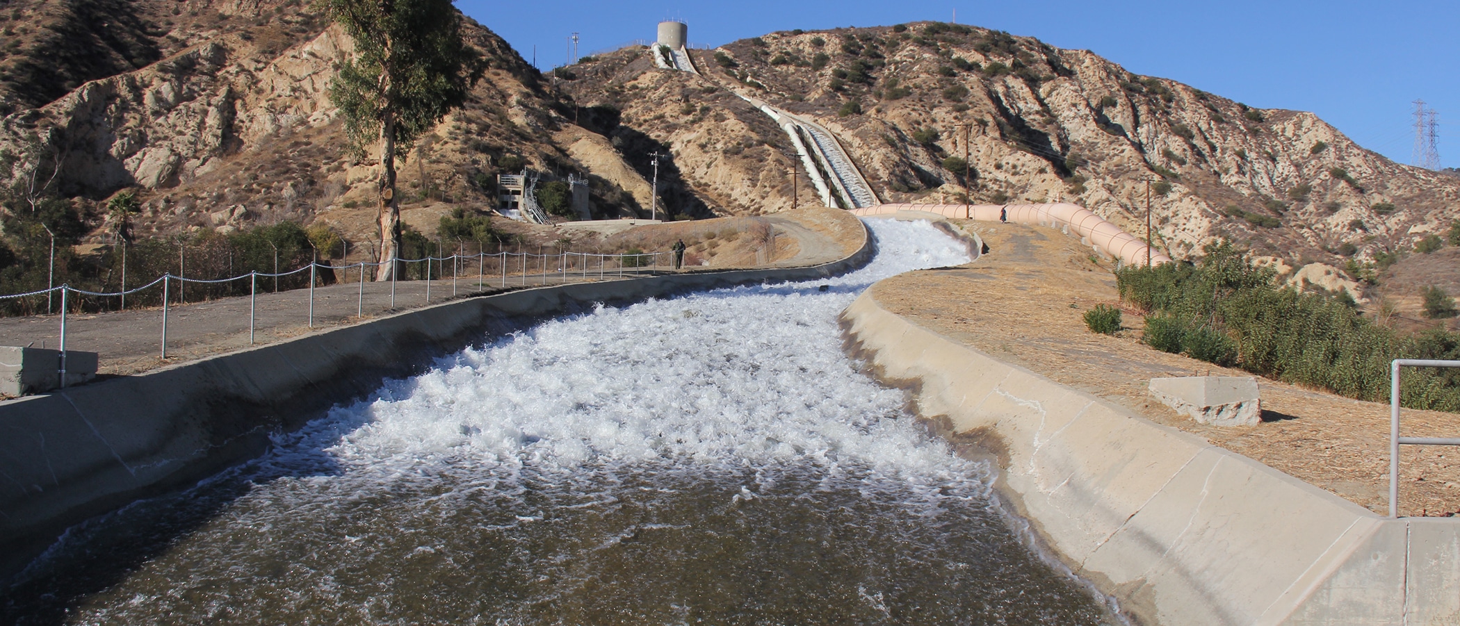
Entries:
{"type": "Polygon", "coordinates": [[[721,289],[543,322],[337,407],[291,448],[355,474],[422,464],[856,463],[923,482],[967,471],[841,350],[837,314],[901,271],[968,261],[927,222],[869,222],[879,254],[809,283],[721,289]],[[828,285],[826,292],[818,286],[828,285]]]}

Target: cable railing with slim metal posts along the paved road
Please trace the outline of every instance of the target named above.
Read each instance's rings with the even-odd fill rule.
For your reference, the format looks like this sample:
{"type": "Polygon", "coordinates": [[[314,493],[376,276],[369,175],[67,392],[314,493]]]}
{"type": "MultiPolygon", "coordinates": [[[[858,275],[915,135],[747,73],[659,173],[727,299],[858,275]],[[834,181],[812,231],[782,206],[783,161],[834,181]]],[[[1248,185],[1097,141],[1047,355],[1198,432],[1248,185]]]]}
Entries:
{"type": "MultiPolygon", "coordinates": [[[[388,263],[388,261],[387,261],[388,263]]],[[[432,302],[431,289],[434,283],[451,282],[450,298],[458,295],[458,283],[466,279],[470,286],[472,279],[474,279],[474,292],[483,292],[486,289],[514,289],[514,287],[529,287],[529,286],[548,286],[548,285],[566,285],[569,282],[593,282],[593,280],[618,280],[639,276],[654,276],[664,270],[679,268],[682,261],[676,263],[675,252],[620,252],[620,254],[597,254],[597,252],[572,252],[561,251],[555,254],[533,254],[533,252],[511,252],[499,251],[495,254],[477,252],[477,254],[453,254],[448,257],[432,257],[425,258],[399,258],[396,261],[397,271],[391,271],[390,276],[390,306],[387,311],[397,309],[397,283],[400,274],[406,266],[425,263],[425,279],[423,280],[404,280],[409,283],[425,283],[425,302],[422,305],[429,305],[432,302]],[[448,267],[450,266],[450,267],[448,267]],[[474,266],[474,267],[473,267],[474,266]],[[474,277],[470,270],[474,271],[474,277]],[[488,271],[491,270],[491,271],[488,271]],[[464,274],[464,276],[463,276],[464,274]]],[[[238,274],[222,279],[194,279],[175,276],[171,271],[159,276],[158,279],[131,289],[117,290],[117,292],[93,292],[86,289],[72,287],[70,285],[58,285],[48,289],[36,289],[25,293],[9,293],[0,295],[0,301],[18,299],[18,298],[39,298],[60,295],[60,341],[57,350],[60,352],[58,360],[58,375],[60,385],[66,387],[66,349],[67,349],[67,317],[74,305],[72,295],[83,295],[91,298],[117,298],[120,301],[120,311],[126,311],[126,298],[128,295],[142,293],[150,289],[161,290],[161,337],[158,340],[158,355],[162,359],[168,358],[168,315],[172,309],[174,295],[178,296],[178,304],[181,302],[181,287],[187,283],[194,285],[222,285],[232,283],[238,280],[248,280],[248,344],[256,344],[256,331],[258,330],[258,279],[279,279],[285,276],[301,274],[304,271],[310,273],[308,286],[308,312],[305,320],[310,328],[315,327],[315,286],[320,283],[320,271],[342,271],[343,279],[337,285],[347,285],[349,274],[353,270],[358,273],[356,290],[356,318],[365,317],[365,283],[383,283],[377,280],[366,280],[368,268],[378,268],[385,263],[380,261],[356,261],[343,266],[333,266],[327,263],[311,261],[310,264],[289,270],[289,271],[250,271],[247,274],[238,274]],[[177,292],[174,292],[174,283],[177,285],[177,292]]],[[[444,286],[442,286],[444,287],[444,286]]],[[[437,296],[437,299],[447,298],[445,293],[437,296]]]]}

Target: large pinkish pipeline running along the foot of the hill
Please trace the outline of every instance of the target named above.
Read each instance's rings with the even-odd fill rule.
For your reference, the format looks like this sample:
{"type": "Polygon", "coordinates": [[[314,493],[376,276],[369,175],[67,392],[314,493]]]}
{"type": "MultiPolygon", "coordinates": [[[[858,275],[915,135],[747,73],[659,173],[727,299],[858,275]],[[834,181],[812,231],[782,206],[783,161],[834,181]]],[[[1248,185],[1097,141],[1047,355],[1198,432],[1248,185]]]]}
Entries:
{"type": "Polygon", "coordinates": [[[1094,245],[1095,250],[1120,258],[1127,266],[1145,266],[1171,263],[1171,257],[1149,248],[1146,242],[1134,238],[1120,226],[1079,204],[877,204],[853,210],[858,217],[888,215],[896,212],[934,213],[952,219],[974,219],[980,222],[997,222],[1000,212],[1007,212],[1007,220],[1015,223],[1050,223],[1066,225],[1094,245]],[[1148,257],[1149,254],[1149,257],[1148,257]]]}

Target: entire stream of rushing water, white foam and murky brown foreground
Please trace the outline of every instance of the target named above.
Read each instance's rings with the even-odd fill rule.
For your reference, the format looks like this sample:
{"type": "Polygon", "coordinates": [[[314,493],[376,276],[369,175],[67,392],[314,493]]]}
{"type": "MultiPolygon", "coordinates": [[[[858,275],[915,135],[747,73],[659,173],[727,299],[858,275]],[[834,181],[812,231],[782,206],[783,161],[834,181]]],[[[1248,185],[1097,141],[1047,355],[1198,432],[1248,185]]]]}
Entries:
{"type": "Polygon", "coordinates": [[[1102,623],[837,314],[968,261],[870,220],[847,276],[539,324],[387,381],[197,489],[76,528],[20,623],[1102,623]],[[826,286],[826,290],[821,290],[826,286]]]}

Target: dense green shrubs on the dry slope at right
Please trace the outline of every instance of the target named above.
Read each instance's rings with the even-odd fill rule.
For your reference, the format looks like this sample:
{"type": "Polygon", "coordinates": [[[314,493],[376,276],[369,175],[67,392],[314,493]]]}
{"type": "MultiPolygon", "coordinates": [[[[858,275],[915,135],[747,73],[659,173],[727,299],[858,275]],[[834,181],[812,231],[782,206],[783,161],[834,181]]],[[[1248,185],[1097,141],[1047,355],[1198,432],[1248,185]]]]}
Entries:
{"type": "MultiPolygon", "coordinates": [[[[1388,398],[1390,360],[1460,358],[1460,334],[1397,334],[1345,298],[1278,287],[1272,270],[1248,263],[1231,242],[1204,251],[1194,266],[1117,271],[1121,298],[1146,312],[1146,344],[1372,401],[1388,398]]],[[[1402,401],[1460,411],[1460,374],[1406,375],[1402,401]]]]}

